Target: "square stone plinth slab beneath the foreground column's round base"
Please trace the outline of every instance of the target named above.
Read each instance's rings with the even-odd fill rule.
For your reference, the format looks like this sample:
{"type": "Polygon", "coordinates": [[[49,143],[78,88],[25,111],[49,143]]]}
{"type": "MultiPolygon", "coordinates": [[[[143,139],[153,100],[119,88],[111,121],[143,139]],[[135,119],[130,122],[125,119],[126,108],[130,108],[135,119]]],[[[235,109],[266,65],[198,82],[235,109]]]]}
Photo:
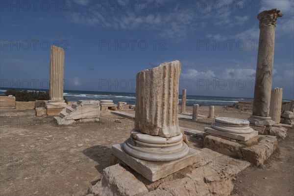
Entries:
{"type": "Polygon", "coordinates": [[[200,152],[190,148],[189,153],[183,158],[174,161],[155,162],[135,158],[124,152],[123,144],[116,144],[112,146],[112,154],[149,181],[154,182],[189,165],[193,165],[197,162],[200,152]]]}

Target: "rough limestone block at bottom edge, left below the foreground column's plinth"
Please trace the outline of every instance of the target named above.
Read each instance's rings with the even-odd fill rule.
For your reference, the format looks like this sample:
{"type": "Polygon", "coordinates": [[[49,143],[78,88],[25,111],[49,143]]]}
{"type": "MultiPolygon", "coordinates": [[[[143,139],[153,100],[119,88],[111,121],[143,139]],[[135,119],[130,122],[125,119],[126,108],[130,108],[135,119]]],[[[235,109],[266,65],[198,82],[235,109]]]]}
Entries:
{"type": "Polygon", "coordinates": [[[103,170],[102,179],[90,188],[98,196],[137,196],[148,193],[146,186],[119,164],[103,170]]]}

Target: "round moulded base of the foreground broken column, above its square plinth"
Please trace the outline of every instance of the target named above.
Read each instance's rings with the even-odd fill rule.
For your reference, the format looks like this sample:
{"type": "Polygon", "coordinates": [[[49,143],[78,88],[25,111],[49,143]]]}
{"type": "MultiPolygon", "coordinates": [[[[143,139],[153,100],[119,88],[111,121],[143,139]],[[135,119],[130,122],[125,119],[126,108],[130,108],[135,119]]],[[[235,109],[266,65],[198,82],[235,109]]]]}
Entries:
{"type": "Polygon", "coordinates": [[[182,140],[182,134],[171,138],[151,136],[137,132],[138,140],[134,139],[132,131],[131,137],[123,143],[123,149],[126,153],[147,161],[172,161],[186,156],[189,147],[182,140]],[[144,135],[148,138],[148,143],[144,135]],[[141,140],[141,141],[140,141],[141,140]],[[165,141],[165,142],[163,142],[165,141]]]}

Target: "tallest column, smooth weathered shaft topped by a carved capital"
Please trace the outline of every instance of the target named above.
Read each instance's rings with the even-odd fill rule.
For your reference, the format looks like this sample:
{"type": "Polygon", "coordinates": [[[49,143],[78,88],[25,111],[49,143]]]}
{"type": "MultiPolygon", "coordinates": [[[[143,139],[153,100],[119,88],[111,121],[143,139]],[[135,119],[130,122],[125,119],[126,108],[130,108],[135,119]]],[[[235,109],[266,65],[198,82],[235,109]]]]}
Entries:
{"type": "Polygon", "coordinates": [[[259,46],[255,76],[253,112],[251,119],[270,120],[270,91],[273,69],[274,34],[280,10],[271,9],[258,14],[259,46]],[[261,117],[261,118],[259,118],[261,117]]]}

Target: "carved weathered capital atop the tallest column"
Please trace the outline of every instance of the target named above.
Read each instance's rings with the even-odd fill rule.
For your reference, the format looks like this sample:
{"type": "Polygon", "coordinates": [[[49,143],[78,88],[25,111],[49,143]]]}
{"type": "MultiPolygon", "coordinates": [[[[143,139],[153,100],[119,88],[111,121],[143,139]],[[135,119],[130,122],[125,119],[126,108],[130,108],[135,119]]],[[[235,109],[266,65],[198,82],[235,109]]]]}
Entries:
{"type": "Polygon", "coordinates": [[[276,26],[276,21],[278,17],[282,17],[283,14],[280,13],[280,10],[276,8],[271,10],[265,10],[257,15],[257,19],[259,20],[259,28],[262,26],[274,25],[276,26]]]}

